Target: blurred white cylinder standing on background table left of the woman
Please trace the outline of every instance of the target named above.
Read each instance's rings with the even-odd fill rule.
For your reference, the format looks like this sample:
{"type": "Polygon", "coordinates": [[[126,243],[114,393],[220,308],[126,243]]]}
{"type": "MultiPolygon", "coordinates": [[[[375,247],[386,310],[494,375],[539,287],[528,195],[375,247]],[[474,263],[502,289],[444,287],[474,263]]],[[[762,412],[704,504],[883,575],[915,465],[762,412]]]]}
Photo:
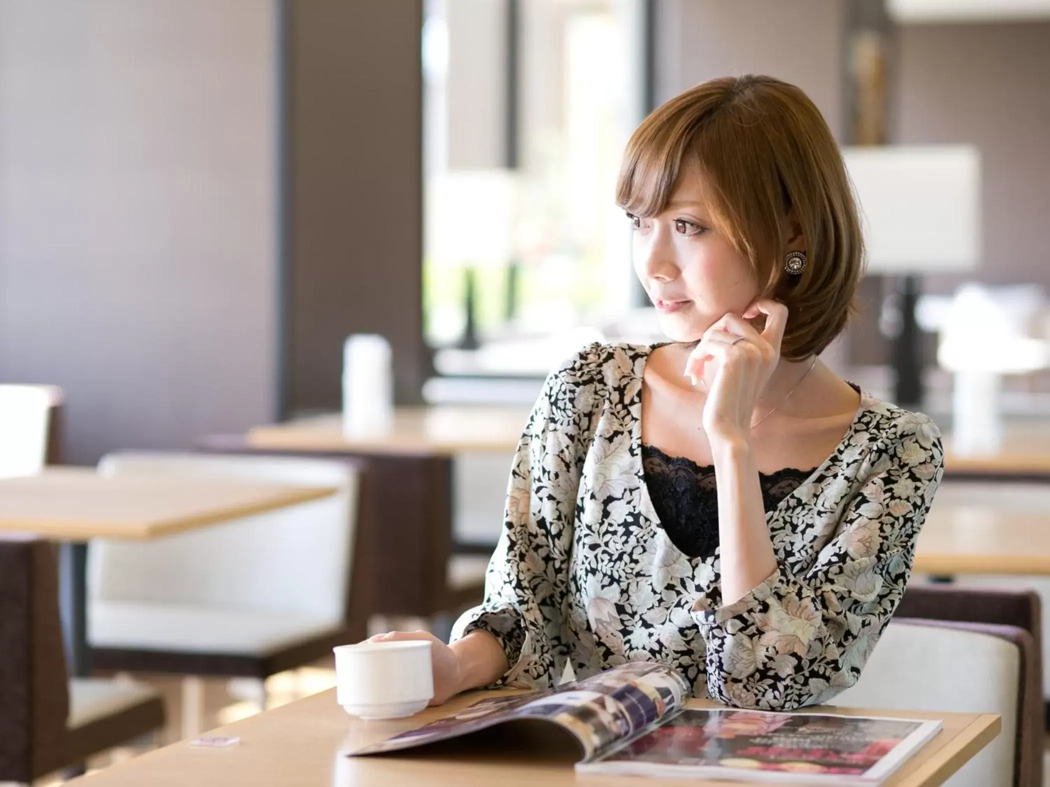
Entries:
{"type": "Polygon", "coordinates": [[[394,422],[394,368],[390,342],[355,334],[342,347],[342,429],[348,437],[382,434],[394,422]]]}

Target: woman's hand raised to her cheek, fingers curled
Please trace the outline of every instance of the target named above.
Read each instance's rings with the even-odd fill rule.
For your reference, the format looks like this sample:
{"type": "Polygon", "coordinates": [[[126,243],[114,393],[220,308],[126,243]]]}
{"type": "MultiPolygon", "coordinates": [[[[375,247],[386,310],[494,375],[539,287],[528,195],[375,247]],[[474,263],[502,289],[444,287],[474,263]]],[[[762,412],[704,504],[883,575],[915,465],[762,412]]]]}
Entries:
{"type": "Polygon", "coordinates": [[[751,420],[780,360],[786,324],[788,306],[774,300],[756,300],[743,315],[727,314],[715,322],[690,353],[686,377],[694,385],[704,379],[709,363],[717,365],[708,386],[702,419],[712,445],[751,441],[751,420]],[[748,322],[760,314],[765,315],[761,333],[748,322]]]}

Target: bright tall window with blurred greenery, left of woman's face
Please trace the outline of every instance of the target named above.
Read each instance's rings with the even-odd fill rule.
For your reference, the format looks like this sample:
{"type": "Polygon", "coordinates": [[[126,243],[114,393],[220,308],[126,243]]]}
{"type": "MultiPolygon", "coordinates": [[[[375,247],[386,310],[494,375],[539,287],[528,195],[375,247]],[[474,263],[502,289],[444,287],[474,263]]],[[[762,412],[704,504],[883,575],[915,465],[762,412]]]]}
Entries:
{"type": "Polygon", "coordinates": [[[644,114],[644,6],[427,3],[423,298],[432,346],[575,342],[636,305],[630,229],[613,192],[644,114]]]}

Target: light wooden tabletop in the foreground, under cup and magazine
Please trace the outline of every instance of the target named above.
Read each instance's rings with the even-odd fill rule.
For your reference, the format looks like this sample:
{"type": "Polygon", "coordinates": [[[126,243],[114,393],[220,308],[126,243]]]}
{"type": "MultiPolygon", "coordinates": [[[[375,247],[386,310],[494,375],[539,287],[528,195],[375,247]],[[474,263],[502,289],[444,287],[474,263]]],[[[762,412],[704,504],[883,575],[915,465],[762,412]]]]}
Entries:
{"type": "MultiPolygon", "coordinates": [[[[188,784],[251,785],[251,787],[415,787],[416,785],[494,785],[532,787],[544,785],[652,785],[729,784],[699,780],[643,780],[637,777],[576,777],[572,752],[538,753],[536,747],[521,751],[478,752],[439,757],[405,752],[382,758],[348,758],[366,743],[417,727],[426,721],[455,712],[475,702],[483,693],[457,697],[440,708],[428,708],[417,717],[388,722],[362,722],[348,716],[335,702],[335,690],[230,724],[213,735],[237,737],[228,748],[197,748],[180,742],[88,777],[85,787],[155,787],[188,784]]],[[[691,700],[692,707],[714,706],[709,700],[691,700]]],[[[921,711],[846,710],[831,712],[854,716],[940,719],[943,729],[910,758],[886,782],[895,787],[941,784],[999,735],[1000,718],[978,714],[928,714],[921,711]]],[[[79,784],[79,782],[78,782],[79,784]]],[[[738,783],[734,783],[738,784],[738,783]]]]}

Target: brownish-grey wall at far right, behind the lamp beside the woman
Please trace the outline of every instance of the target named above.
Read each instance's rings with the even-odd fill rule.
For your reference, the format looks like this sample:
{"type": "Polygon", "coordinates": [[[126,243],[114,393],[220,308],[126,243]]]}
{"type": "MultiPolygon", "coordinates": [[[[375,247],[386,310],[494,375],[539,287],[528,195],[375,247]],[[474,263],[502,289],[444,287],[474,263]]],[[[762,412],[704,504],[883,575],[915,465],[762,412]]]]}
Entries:
{"type": "MultiPolygon", "coordinates": [[[[973,143],[984,165],[976,278],[1050,290],[1050,22],[899,30],[895,142],[973,143]]],[[[972,277],[968,277],[972,278],[972,277]]],[[[929,277],[950,291],[958,277],[929,277]]]]}

